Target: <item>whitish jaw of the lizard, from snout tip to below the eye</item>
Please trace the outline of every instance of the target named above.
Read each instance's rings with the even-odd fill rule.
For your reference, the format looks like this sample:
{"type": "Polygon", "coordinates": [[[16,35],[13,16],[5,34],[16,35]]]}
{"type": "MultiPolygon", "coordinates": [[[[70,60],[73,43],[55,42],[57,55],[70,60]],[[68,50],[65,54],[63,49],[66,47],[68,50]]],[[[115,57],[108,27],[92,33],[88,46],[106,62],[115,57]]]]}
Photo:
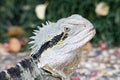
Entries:
{"type": "Polygon", "coordinates": [[[87,30],[85,29],[77,35],[74,35],[73,38],[67,38],[64,44],[57,47],[57,50],[59,50],[57,52],[63,52],[64,49],[64,53],[68,53],[77,48],[80,48],[85,45],[89,40],[91,40],[94,37],[95,33],[96,31],[93,28],[89,28],[87,30]]]}

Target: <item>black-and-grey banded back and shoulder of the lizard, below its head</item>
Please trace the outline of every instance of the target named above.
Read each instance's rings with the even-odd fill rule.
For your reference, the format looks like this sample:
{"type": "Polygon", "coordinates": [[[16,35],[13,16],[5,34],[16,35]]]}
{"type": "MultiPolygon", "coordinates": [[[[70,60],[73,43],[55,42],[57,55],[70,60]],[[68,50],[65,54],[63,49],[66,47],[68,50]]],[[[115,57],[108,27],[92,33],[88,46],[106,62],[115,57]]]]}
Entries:
{"type": "Polygon", "coordinates": [[[19,62],[15,67],[0,72],[0,80],[60,80],[39,69],[31,57],[19,62]]]}

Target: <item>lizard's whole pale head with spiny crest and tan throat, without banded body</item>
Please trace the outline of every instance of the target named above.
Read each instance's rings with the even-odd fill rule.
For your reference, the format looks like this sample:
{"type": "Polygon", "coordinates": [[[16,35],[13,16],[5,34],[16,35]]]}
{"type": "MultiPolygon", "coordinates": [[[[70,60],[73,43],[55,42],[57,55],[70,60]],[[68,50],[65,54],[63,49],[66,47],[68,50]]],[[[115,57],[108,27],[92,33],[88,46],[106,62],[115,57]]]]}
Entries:
{"type": "Polygon", "coordinates": [[[39,68],[67,80],[80,62],[80,49],[95,35],[93,25],[75,14],[40,30],[32,37],[33,58],[40,61],[39,68]]]}

